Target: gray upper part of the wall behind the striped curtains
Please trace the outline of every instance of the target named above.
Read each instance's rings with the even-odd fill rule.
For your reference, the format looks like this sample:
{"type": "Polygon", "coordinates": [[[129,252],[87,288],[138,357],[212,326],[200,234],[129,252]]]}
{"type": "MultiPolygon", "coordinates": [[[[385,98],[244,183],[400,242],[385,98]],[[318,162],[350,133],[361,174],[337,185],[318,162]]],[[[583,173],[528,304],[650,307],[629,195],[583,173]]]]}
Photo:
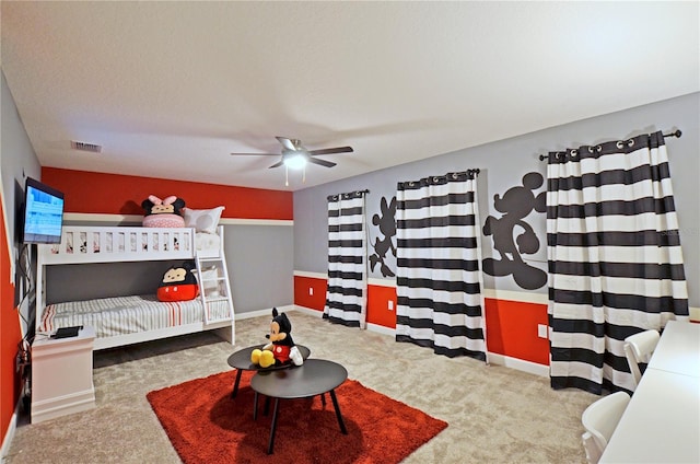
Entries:
{"type": "MultiPolygon", "coordinates": [[[[536,111],[537,108],[533,108],[536,111]]],[[[676,209],[680,225],[680,239],[686,262],[686,278],[691,306],[700,306],[700,93],[657,102],[591,119],[570,123],[523,136],[459,150],[419,162],[377,171],[374,173],[324,184],[294,193],[294,269],[307,272],[327,271],[327,202],[331,194],[369,189],[368,222],[370,243],[378,231],[371,219],[380,212],[382,197],[396,195],[396,184],[415,181],[428,175],[480,169],[478,177],[481,223],[488,216],[500,218],[493,209],[493,196],[503,195],[511,187],[522,185],[523,175],[538,172],[546,177],[546,162],[539,154],[548,151],[575,148],[581,144],[627,139],[635,135],[672,129],[682,130],[682,137],[667,138],[668,158],[676,209]]],[[[544,185],[538,192],[546,189],[544,185]]],[[[534,255],[524,255],[526,262],[546,270],[546,214],[533,212],[525,220],[535,229],[540,248],[534,255]]],[[[482,236],[485,257],[492,256],[490,236],[482,236]]],[[[370,254],[373,251],[370,247],[370,254]]],[[[497,253],[498,256],[498,253],[497,253]]],[[[390,266],[396,269],[395,260],[390,266]]],[[[382,278],[377,268],[370,277],[382,278]]],[[[487,288],[522,291],[512,277],[485,276],[487,288]]],[[[534,290],[547,293],[546,287],[534,290]]]]}

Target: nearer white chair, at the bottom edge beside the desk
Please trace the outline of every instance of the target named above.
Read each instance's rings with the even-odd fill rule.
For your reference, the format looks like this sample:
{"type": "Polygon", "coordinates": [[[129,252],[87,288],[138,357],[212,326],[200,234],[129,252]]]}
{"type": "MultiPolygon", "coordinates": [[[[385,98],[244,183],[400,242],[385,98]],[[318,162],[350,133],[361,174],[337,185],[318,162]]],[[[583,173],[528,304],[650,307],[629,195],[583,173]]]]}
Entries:
{"type": "Polygon", "coordinates": [[[581,422],[586,431],[581,439],[590,464],[597,464],[629,402],[630,395],[617,392],[602,397],[583,411],[581,422]]]}

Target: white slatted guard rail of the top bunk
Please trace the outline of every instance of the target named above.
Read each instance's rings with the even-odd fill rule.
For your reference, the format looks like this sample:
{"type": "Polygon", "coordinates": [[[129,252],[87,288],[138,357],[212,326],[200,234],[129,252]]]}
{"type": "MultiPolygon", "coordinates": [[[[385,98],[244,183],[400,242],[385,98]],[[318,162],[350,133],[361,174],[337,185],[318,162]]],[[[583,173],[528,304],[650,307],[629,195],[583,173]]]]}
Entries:
{"type": "Polygon", "coordinates": [[[192,259],[223,256],[223,227],[217,233],[194,228],[65,225],[61,242],[37,248],[39,266],[192,259]]]}

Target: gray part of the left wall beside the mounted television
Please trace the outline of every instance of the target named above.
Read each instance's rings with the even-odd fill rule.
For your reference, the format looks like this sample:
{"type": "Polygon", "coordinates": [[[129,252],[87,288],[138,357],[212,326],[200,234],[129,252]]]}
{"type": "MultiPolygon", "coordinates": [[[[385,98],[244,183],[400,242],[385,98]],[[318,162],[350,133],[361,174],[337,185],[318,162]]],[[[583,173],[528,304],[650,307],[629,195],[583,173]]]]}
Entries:
{"type": "MultiPolygon", "coordinates": [[[[16,214],[24,201],[24,179],[26,176],[40,178],[42,167],[36,153],[30,143],[30,138],[24,130],[22,120],[10,93],[4,73],[1,74],[0,104],[2,106],[2,119],[0,128],[0,172],[2,173],[2,196],[8,220],[8,234],[12,239],[10,250],[16,263],[20,244],[20,235],[16,234],[16,214]]],[[[33,293],[26,279],[15,278],[15,303],[20,303],[20,311],[25,320],[33,317],[33,293]],[[30,294],[24,298],[25,293],[30,294]]],[[[23,329],[26,326],[23,325],[23,329]]]]}

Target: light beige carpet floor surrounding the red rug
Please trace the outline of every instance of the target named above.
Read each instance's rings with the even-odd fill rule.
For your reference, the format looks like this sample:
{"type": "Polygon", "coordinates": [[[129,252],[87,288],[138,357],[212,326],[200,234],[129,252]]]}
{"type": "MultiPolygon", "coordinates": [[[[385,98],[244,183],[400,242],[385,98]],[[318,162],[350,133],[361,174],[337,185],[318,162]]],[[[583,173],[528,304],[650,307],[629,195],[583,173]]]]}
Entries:
{"type": "MultiPolygon", "coordinates": [[[[290,312],[294,341],[348,376],[450,426],[404,460],[425,463],[579,463],[581,414],[598,397],[553,391],[549,379],[468,358],[445,358],[392,336],[290,312]]],[[[211,334],[95,353],[95,409],[27,424],[20,417],[8,464],[176,464],[179,456],[145,398],[152,390],[230,370],[236,349],[266,343],[267,316],[236,321],[236,346],[211,334]]]]}

